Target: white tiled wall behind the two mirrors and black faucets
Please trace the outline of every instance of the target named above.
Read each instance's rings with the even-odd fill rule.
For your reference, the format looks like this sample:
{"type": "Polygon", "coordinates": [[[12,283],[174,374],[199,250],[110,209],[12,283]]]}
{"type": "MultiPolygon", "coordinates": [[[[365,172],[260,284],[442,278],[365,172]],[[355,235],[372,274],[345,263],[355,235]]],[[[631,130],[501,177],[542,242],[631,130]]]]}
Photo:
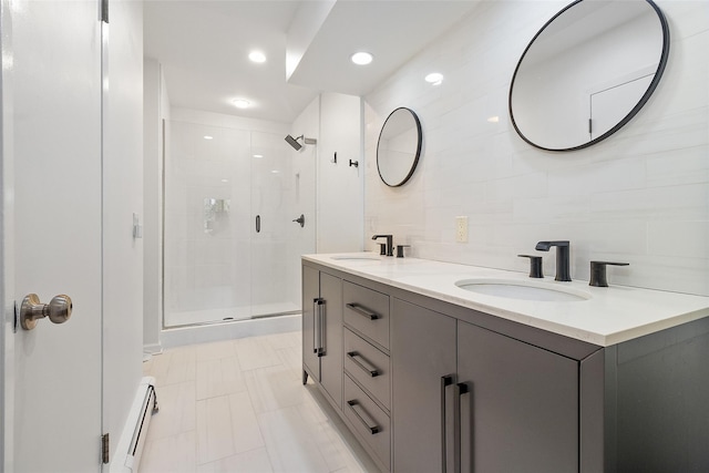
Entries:
{"type": "MultiPolygon", "coordinates": [[[[507,93],[527,42],[566,3],[481,2],[367,95],[366,236],[393,233],[413,256],[515,271],[527,270],[516,255],[536,241],[568,239],[575,279],[588,279],[590,259],[626,261],[609,269],[610,284],[709,295],[707,2],[657,1],[671,47],[655,94],[608,140],[552,153],[516,135],[507,93]],[[423,81],[433,71],[442,84],[423,81]],[[418,113],[424,143],[412,179],[390,188],[376,150],[398,106],[418,113]],[[459,215],[469,217],[466,244],[454,239],[459,215]]],[[[546,275],[553,253],[541,254],[546,275]]]]}

